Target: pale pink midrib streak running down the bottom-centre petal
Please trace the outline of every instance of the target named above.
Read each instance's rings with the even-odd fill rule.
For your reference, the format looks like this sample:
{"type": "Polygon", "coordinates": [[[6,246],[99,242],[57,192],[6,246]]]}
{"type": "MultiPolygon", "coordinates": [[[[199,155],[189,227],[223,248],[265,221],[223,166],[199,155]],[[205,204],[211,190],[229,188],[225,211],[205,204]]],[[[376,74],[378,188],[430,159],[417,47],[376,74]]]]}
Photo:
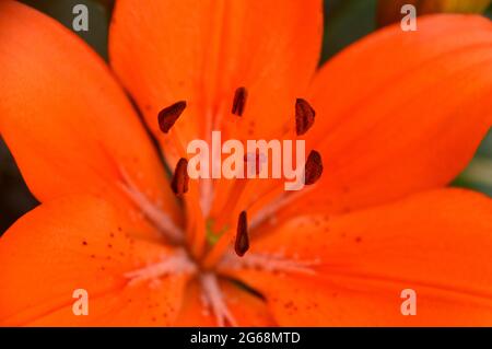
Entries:
{"type": "Polygon", "coordinates": [[[203,289],[203,298],[207,300],[206,305],[212,307],[216,324],[223,327],[225,326],[225,322],[227,322],[231,326],[237,326],[234,316],[224,302],[216,276],[211,272],[206,272],[200,276],[200,281],[203,289]]]}

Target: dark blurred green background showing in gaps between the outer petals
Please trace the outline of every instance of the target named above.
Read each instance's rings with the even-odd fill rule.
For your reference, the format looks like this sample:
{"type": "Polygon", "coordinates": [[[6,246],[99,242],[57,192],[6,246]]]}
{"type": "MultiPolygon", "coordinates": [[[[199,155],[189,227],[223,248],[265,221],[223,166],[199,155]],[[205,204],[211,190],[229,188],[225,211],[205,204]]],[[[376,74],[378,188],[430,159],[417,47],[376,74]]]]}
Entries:
{"type": "MultiPolygon", "coordinates": [[[[107,59],[107,30],[113,0],[25,0],[22,2],[55,18],[69,28],[73,20],[72,8],[79,3],[86,4],[90,12],[90,30],[77,34],[104,59],[107,59]]],[[[434,7],[432,12],[443,11],[440,7],[445,8],[446,12],[482,11],[482,8],[479,10],[468,8],[469,4],[477,5],[478,2],[484,3],[483,13],[492,19],[492,5],[488,0],[405,0],[403,2],[401,0],[325,0],[325,38],[320,63],[378,26],[398,21],[401,18],[398,13],[400,3],[431,4],[434,7]]],[[[482,142],[468,168],[453,185],[472,188],[492,196],[492,132],[482,142]]],[[[19,217],[36,205],[12,155],[0,139],[0,235],[19,217]]]]}

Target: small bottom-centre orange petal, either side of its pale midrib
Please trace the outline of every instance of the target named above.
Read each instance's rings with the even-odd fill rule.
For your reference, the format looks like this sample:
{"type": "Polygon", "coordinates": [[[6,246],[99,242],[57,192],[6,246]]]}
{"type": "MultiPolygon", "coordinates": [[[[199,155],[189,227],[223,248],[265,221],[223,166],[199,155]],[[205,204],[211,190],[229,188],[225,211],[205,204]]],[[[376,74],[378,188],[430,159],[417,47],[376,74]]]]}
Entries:
{"type": "MultiPolygon", "coordinates": [[[[267,309],[265,301],[241,289],[230,281],[220,282],[225,298],[225,304],[238,326],[274,326],[274,322],[267,309]]],[[[174,326],[216,326],[215,317],[211,310],[202,301],[201,288],[198,282],[190,282],[183,307],[174,326]]]]}

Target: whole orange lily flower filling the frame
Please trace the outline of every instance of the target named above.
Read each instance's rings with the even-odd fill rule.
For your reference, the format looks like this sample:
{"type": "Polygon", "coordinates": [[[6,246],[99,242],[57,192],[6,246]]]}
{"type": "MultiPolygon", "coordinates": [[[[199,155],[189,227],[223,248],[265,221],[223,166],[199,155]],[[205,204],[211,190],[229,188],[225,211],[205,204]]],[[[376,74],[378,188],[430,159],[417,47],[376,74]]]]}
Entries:
{"type": "Polygon", "coordinates": [[[1,1],[0,131],[42,205],[0,240],[0,324],[492,325],[491,199],[444,188],[491,126],[491,22],[420,18],[317,70],[321,27],[320,0],[119,0],[109,70],[56,21],[1,1]],[[296,98],[316,110],[303,136],[296,98]],[[163,133],[157,115],[177,117],[178,101],[163,133]],[[176,164],[211,130],[303,138],[323,176],[185,194],[176,164]]]}

